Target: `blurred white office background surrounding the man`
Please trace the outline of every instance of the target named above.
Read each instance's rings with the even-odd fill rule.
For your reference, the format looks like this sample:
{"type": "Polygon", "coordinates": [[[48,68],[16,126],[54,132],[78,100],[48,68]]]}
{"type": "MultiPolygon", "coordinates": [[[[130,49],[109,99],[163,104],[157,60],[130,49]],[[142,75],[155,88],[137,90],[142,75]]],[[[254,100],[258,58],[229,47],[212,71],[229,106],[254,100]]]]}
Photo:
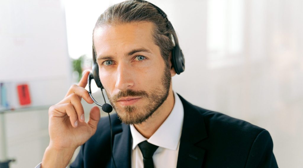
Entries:
{"type": "MultiPolygon", "coordinates": [[[[91,69],[95,21],[118,2],[0,1],[0,161],[42,161],[48,108],[91,69]]],[[[267,129],[278,166],[303,167],[303,1],[150,2],[168,15],[185,55],[174,91],[267,129]]],[[[93,105],[83,106],[88,115],[93,105]]]]}

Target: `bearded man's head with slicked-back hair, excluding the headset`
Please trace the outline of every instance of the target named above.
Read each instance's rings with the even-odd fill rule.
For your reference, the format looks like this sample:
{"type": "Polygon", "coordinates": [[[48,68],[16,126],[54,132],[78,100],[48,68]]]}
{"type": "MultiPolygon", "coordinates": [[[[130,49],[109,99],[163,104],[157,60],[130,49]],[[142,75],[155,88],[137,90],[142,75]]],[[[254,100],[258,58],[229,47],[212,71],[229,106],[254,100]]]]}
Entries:
{"type": "Polygon", "coordinates": [[[149,3],[122,2],[98,18],[93,43],[99,77],[122,122],[140,124],[165,103],[175,75],[172,33],[149,3]]]}

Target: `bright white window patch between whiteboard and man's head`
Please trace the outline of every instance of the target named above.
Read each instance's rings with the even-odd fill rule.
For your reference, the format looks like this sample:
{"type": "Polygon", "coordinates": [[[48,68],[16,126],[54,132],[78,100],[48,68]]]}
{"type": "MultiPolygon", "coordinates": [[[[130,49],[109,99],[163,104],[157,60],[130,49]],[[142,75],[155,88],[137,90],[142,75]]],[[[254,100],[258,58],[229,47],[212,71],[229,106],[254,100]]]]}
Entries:
{"type": "Polygon", "coordinates": [[[81,55],[92,57],[92,31],[97,18],[109,6],[109,1],[64,0],[68,53],[77,59],[81,55]]]}

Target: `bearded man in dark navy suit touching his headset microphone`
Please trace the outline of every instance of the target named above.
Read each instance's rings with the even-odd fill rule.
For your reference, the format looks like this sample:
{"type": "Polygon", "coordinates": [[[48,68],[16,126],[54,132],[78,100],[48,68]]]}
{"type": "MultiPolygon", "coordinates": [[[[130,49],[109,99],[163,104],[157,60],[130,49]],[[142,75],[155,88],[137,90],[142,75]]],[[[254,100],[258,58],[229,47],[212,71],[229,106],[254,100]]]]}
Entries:
{"type": "Polygon", "coordinates": [[[172,91],[175,31],[148,2],[109,7],[93,31],[100,81],[117,114],[92,107],[88,123],[80,100],[92,104],[85,72],[49,109],[50,143],[41,167],[278,167],[268,131],[188,103],[172,91]],[[153,150],[153,151],[151,151],[153,150]],[[148,156],[149,155],[149,156],[148,156]]]}

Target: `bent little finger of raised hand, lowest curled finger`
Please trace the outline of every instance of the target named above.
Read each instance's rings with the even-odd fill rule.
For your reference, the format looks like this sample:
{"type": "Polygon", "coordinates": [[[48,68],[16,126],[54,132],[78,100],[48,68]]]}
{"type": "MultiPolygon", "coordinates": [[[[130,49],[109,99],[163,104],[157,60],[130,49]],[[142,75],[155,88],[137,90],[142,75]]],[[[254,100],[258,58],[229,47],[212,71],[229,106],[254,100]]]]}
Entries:
{"type": "Polygon", "coordinates": [[[73,127],[78,126],[78,117],[76,114],[76,110],[74,106],[71,103],[64,103],[64,104],[57,104],[54,106],[51,106],[49,108],[49,115],[51,117],[64,117],[65,115],[68,115],[69,120],[73,127]]]}

